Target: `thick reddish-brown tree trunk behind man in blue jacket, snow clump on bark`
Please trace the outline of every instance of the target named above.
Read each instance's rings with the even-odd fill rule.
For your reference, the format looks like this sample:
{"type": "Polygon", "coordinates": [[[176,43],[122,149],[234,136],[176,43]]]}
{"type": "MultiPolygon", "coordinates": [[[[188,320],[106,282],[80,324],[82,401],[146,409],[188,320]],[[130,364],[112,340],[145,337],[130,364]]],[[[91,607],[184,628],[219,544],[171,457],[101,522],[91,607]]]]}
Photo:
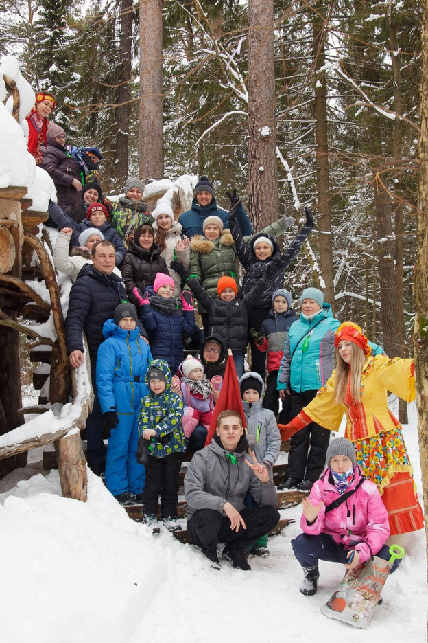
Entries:
{"type": "Polygon", "coordinates": [[[274,1],[248,1],[248,210],[254,229],[278,218],[274,1]]]}

